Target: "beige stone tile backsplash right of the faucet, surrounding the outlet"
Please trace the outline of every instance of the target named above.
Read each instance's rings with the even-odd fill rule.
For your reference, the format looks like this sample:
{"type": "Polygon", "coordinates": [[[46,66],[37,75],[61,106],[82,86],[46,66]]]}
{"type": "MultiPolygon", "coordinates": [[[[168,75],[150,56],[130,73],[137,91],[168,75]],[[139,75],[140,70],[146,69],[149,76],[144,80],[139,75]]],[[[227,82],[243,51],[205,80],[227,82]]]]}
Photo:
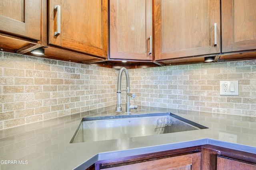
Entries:
{"type": "Polygon", "coordinates": [[[144,106],[256,116],[256,60],[130,69],[144,106]],[[220,96],[220,81],[238,80],[238,96],[220,96]]]}

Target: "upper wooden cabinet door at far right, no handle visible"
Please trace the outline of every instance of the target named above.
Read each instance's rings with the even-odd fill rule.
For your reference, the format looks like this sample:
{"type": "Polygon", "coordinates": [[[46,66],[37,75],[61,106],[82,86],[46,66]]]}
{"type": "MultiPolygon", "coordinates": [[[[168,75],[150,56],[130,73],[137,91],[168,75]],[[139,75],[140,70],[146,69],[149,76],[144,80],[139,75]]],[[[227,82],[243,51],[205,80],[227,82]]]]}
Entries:
{"type": "Polygon", "coordinates": [[[223,0],[222,52],[256,49],[256,1],[223,0]]]}

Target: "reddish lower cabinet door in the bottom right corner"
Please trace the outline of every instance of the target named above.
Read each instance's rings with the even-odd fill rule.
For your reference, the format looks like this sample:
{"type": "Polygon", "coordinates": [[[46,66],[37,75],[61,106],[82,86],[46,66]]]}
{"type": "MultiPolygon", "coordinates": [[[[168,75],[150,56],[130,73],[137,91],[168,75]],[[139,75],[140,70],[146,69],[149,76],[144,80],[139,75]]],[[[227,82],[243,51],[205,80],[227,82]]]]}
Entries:
{"type": "Polygon", "coordinates": [[[255,170],[256,164],[225,156],[217,156],[216,170],[255,170]]]}

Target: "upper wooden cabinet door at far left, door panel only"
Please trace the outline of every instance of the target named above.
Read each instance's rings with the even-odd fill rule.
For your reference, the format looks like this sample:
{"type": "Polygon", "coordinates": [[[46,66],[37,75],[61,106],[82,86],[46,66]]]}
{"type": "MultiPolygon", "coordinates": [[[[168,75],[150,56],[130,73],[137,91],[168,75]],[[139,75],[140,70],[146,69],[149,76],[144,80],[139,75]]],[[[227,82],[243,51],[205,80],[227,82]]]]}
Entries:
{"type": "Polygon", "coordinates": [[[40,40],[41,0],[0,0],[0,31],[40,40]]]}

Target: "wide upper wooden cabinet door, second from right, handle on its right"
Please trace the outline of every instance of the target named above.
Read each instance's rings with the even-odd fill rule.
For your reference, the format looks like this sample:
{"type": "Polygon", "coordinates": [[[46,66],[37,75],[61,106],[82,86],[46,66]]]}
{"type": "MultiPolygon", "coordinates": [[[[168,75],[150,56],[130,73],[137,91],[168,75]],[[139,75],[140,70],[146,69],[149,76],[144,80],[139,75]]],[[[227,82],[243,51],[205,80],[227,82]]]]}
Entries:
{"type": "Polygon", "coordinates": [[[155,59],[220,53],[220,0],[154,0],[155,59]]]}

